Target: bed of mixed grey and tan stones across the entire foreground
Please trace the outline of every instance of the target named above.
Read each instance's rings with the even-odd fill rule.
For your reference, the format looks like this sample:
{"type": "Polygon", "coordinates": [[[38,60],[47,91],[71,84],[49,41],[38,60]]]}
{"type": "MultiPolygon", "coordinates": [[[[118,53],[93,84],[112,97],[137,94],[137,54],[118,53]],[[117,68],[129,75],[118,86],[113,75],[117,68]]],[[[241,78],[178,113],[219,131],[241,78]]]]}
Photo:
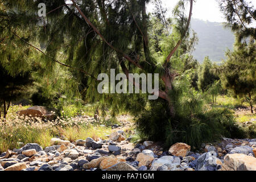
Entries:
{"type": "Polygon", "coordinates": [[[51,146],[36,143],[8,150],[0,155],[0,171],[256,171],[256,139],[229,139],[202,144],[191,151],[176,143],[168,151],[151,141],[130,143],[129,122],[113,125],[108,140],[86,138],[69,142],[51,139],[51,146]]]}

